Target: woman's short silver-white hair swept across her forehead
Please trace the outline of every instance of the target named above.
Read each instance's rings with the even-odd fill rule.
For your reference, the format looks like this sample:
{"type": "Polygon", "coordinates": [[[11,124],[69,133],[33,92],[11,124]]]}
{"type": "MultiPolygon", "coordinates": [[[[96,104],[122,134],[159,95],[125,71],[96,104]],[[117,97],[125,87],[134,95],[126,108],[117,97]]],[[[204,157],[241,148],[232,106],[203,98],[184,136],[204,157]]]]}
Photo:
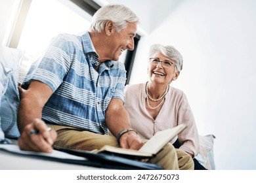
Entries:
{"type": "Polygon", "coordinates": [[[153,44],[152,46],[150,46],[150,57],[156,54],[157,52],[160,52],[165,57],[175,61],[177,71],[182,70],[183,58],[181,56],[181,53],[178,50],[176,50],[175,47],[169,45],[163,46],[161,44],[153,44]]]}

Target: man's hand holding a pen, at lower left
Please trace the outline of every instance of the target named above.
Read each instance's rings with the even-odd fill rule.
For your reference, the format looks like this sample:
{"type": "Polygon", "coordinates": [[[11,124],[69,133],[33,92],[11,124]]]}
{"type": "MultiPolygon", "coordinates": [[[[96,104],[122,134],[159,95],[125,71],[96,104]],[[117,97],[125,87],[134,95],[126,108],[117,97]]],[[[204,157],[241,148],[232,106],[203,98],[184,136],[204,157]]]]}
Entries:
{"type": "Polygon", "coordinates": [[[37,152],[53,152],[53,143],[56,141],[57,133],[49,131],[48,126],[43,120],[37,118],[32,123],[24,127],[18,145],[21,150],[37,152]],[[38,133],[32,134],[31,131],[37,130],[38,133]]]}

